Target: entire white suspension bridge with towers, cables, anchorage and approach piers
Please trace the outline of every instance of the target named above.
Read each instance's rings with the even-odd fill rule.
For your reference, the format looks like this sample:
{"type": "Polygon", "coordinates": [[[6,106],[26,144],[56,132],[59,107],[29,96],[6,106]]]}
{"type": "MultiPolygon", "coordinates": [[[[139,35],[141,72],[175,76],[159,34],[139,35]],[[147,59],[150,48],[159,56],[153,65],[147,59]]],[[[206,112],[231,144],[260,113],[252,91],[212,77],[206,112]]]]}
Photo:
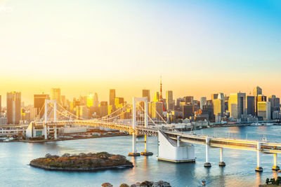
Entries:
{"type": "Polygon", "coordinates": [[[277,153],[281,153],[281,144],[268,141],[249,141],[247,139],[226,139],[194,134],[183,134],[176,132],[173,128],[165,130],[157,128],[157,124],[166,125],[162,115],[157,113],[157,119],[148,115],[148,99],[146,97],[133,97],[133,104],[124,104],[116,111],[101,118],[84,119],[67,111],[55,100],[46,100],[44,115],[30,123],[27,128],[27,137],[36,137],[36,130],[43,129],[42,134],[48,139],[48,134],[53,134],[57,139],[57,128],[65,125],[103,127],[112,130],[129,132],[132,135],[132,152],[129,156],[152,155],[148,151],[147,136],[158,136],[158,160],[170,162],[195,162],[195,145],[206,146],[206,162],[204,167],[211,167],[209,162],[209,148],[220,149],[220,160],[218,165],[226,166],[223,162],[223,149],[232,148],[237,150],[256,151],[256,172],[262,172],[261,154],[273,154],[273,170],[279,170],[277,166],[277,153]],[[126,115],[126,113],[129,115],[126,115]],[[129,118],[124,118],[129,116],[129,118]],[[144,141],[136,141],[136,136],[144,135],[144,141]],[[144,151],[138,153],[136,144],[143,143],[144,151]]]}

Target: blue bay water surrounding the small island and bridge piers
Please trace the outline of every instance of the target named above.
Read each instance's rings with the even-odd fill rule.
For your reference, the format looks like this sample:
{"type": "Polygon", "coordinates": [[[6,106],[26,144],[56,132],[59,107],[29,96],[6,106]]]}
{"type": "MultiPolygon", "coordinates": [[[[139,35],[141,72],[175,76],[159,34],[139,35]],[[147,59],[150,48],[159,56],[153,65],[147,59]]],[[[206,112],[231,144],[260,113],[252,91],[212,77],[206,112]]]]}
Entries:
{"type": "MultiPolygon", "coordinates": [[[[281,142],[281,126],[260,127],[219,127],[196,131],[197,134],[209,134],[216,137],[259,139],[266,137],[270,141],[281,142]]],[[[207,186],[258,186],[266,178],[276,177],[273,172],[273,155],[262,155],[263,173],[254,171],[256,152],[224,149],[226,167],[218,167],[219,149],[210,149],[212,167],[204,168],[204,146],[195,146],[195,163],[174,164],[157,161],[157,137],[149,137],[148,148],[155,155],[129,158],[135,165],[132,169],[115,169],[99,172],[53,172],[30,167],[34,158],[44,157],[46,153],[89,153],[107,151],[127,155],[131,151],[131,137],[107,137],[98,139],[80,139],[46,143],[0,143],[0,186],[100,186],[110,182],[114,186],[137,181],[164,180],[172,186],[201,186],[205,179],[207,186]]],[[[143,144],[138,144],[143,151],[143,144]]],[[[278,155],[280,159],[280,156],[278,155]]],[[[280,160],[281,161],[281,160],[280,160]]],[[[280,163],[281,166],[281,163],[280,163]]]]}

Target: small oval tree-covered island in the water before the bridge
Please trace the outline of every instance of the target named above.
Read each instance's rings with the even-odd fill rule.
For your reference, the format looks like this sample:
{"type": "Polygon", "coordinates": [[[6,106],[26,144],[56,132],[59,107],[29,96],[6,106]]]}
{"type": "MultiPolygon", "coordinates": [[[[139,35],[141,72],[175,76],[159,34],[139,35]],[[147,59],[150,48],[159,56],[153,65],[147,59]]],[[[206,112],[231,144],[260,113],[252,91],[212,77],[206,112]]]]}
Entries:
{"type": "Polygon", "coordinates": [[[46,154],[44,158],[31,160],[30,165],[41,169],[77,172],[133,167],[133,163],[124,155],[113,155],[107,152],[79,153],[79,155],[65,153],[62,156],[46,154]]]}

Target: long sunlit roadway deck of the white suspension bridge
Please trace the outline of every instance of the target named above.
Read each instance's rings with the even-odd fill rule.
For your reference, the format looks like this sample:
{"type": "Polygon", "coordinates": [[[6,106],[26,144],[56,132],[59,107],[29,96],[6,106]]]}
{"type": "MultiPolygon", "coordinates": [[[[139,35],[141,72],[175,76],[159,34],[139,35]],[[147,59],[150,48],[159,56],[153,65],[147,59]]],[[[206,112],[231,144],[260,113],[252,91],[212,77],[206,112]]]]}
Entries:
{"type": "MultiPolygon", "coordinates": [[[[44,122],[36,122],[35,125],[44,125],[44,122]]],[[[102,122],[96,120],[65,120],[65,121],[50,121],[47,123],[47,126],[61,126],[61,125],[83,125],[83,126],[91,126],[91,127],[104,127],[115,130],[122,130],[125,132],[129,132],[132,134],[135,132],[136,134],[146,134],[150,136],[157,136],[158,130],[152,127],[144,127],[137,125],[133,130],[132,125],[124,125],[122,123],[112,123],[112,122],[102,122]]],[[[183,134],[181,132],[171,132],[164,131],[164,133],[171,139],[177,140],[178,137],[180,141],[191,143],[191,144],[208,144],[210,147],[214,148],[234,148],[234,149],[242,149],[248,151],[261,151],[263,153],[281,153],[281,144],[266,142],[266,141],[253,141],[253,140],[245,140],[245,139],[226,139],[226,138],[216,138],[216,137],[208,137],[207,136],[198,136],[198,135],[190,135],[183,134]],[[208,142],[208,143],[207,143],[208,142]],[[260,144],[260,148],[258,147],[258,143],[260,144]]]]}

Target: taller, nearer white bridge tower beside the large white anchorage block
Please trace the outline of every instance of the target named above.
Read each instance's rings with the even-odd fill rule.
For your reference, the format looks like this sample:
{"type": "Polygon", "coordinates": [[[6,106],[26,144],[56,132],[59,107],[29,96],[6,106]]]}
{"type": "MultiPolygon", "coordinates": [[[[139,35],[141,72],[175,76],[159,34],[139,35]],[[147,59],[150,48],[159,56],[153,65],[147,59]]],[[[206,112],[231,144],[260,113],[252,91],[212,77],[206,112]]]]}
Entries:
{"type": "Polygon", "coordinates": [[[142,141],[145,144],[145,150],[143,152],[138,153],[136,151],[136,102],[144,102],[145,103],[145,127],[148,127],[148,98],[147,97],[133,97],[133,140],[132,140],[132,147],[133,150],[129,153],[129,156],[139,156],[139,155],[152,155],[153,153],[148,152],[148,139],[147,135],[145,134],[145,141],[142,141]]]}

